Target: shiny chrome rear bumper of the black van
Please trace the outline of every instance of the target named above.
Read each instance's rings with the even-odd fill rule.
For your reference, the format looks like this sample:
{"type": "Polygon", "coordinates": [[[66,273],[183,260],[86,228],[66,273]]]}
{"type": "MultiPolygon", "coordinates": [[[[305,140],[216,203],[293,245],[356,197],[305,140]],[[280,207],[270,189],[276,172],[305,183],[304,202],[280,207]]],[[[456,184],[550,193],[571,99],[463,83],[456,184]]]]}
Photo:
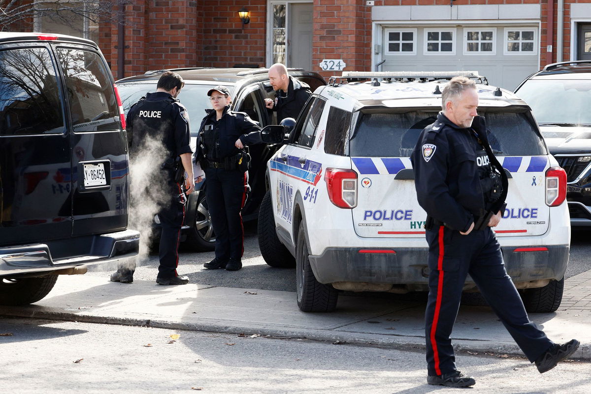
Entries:
{"type": "Polygon", "coordinates": [[[139,232],[73,237],[47,243],[0,247],[0,276],[12,278],[48,274],[80,265],[119,261],[139,252],[139,232]],[[57,256],[57,257],[56,257],[57,256]]]}

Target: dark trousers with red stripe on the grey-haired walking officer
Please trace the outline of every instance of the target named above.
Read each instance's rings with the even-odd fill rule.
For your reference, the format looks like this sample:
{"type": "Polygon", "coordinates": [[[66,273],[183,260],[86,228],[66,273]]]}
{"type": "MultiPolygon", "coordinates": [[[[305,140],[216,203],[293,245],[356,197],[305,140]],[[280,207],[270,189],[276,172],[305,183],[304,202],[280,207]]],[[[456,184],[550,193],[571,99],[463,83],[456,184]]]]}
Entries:
{"type": "Polygon", "coordinates": [[[553,344],[530,321],[519,293],[505,271],[501,247],[490,227],[461,235],[437,226],[427,230],[427,242],[429,298],[425,336],[428,375],[456,370],[450,335],[467,274],[530,362],[553,344]]]}

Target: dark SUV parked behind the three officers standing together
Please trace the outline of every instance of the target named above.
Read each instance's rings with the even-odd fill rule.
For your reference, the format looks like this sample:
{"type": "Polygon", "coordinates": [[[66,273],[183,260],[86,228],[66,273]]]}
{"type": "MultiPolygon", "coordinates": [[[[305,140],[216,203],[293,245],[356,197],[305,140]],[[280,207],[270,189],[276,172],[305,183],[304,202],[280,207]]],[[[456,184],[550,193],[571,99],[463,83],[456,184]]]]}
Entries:
{"type": "MultiPolygon", "coordinates": [[[[145,74],[120,79],[115,82],[123,100],[124,111],[127,112],[134,103],[148,92],[156,91],[156,84],[161,74],[168,70],[147,71],[145,74]]],[[[185,82],[182,92],[178,96],[181,103],[189,111],[191,127],[191,148],[196,147],[199,125],[205,116],[205,109],[211,108],[207,91],[217,85],[222,85],[230,91],[232,104],[230,109],[247,113],[251,119],[261,127],[277,124],[275,112],[265,108],[265,98],[274,98],[274,92],[269,83],[268,69],[170,69],[178,73],[185,82]]],[[[310,90],[326,85],[320,74],[302,69],[288,69],[290,76],[310,85],[310,90]]],[[[248,194],[246,204],[242,209],[243,220],[256,219],[262,198],[265,195],[265,166],[268,159],[277,150],[278,145],[250,146],[252,157],[248,184],[251,193],[248,194]]],[[[189,208],[183,225],[183,240],[186,245],[197,251],[213,250],[215,234],[207,210],[207,200],[204,188],[207,181],[196,187],[195,193],[189,195],[189,208]]],[[[157,217],[155,218],[157,220],[157,217]]],[[[155,227],[159,227],[157,222],[155,227]]]]}

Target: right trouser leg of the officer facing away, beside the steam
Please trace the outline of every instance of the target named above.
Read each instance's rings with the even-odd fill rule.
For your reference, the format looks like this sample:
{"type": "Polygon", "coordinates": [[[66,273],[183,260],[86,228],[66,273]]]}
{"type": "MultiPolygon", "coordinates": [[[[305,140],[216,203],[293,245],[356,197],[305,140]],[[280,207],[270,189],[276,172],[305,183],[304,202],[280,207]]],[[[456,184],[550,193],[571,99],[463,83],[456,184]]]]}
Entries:
{"type": "MultiPolygon", "coordinates": [[[[167,194],[170,200],[165,201],[158,211],[158,218],[162,226],[160,234],[160,265],[158,266],[158,278],[170,279],[177,276],[178,243],[181,238],[185,204],[180,201],[179,194],[183,188],[179,183],[169,183],[167,194]]],[[[186,199],[185,199],[186,200],[186,199]]]]}

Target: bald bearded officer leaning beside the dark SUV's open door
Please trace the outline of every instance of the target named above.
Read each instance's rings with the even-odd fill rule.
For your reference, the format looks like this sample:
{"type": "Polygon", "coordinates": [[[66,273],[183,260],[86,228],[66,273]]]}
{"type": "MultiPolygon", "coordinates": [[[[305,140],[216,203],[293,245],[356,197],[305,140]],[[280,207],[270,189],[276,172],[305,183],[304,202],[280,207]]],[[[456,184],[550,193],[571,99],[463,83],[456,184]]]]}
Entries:
{"type": "Polygon", "coordinates": [[[275,90],[275,100],[265,99],[268,109],[277,111],[277,123],[285,118],[297,119],[304,104],[312,95],[310,86],[297,78],[290,77],[281,63],[269,67],[269,82],[275,90]]]}

